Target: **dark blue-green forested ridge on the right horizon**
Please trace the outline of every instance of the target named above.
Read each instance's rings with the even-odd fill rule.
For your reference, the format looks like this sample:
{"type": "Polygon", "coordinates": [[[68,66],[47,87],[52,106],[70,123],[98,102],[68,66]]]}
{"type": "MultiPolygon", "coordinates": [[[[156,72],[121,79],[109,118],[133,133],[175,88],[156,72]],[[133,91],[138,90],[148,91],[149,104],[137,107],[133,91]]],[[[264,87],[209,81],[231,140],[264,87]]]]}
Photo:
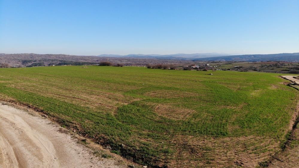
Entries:
{"type": "Polygon", "coordinates": [[[197,59],[192,59],[192,60],[193,61],[248,61],[248,62],[287,61],[287,62],[299,62],[299,53],[217,56],[217,57],[209,57],[209,58],[197,58],[197,59]]]}

